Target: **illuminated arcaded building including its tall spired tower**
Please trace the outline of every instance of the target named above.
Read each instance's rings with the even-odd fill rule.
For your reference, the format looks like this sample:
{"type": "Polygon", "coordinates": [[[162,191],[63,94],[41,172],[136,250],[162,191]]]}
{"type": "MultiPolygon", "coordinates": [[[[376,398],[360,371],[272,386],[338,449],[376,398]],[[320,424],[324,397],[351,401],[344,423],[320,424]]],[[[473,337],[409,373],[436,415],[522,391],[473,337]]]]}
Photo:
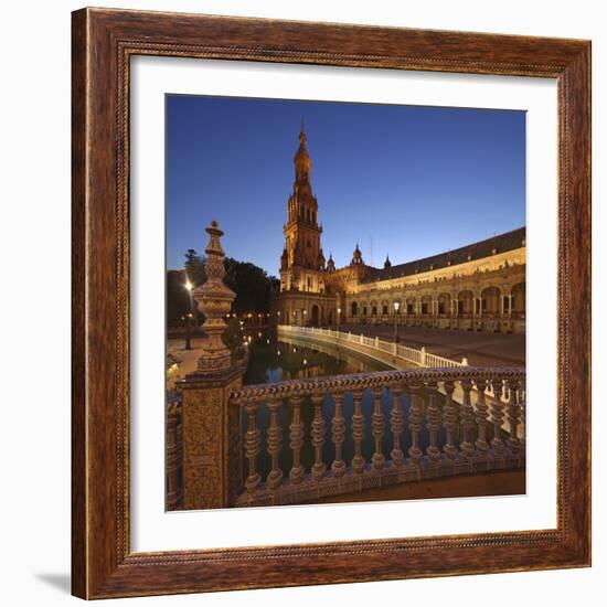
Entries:
{"type": "Polygon", "coordinates": [[[525,228],[423,259],[366,265],[356,244],[337,267],[321,246],[318,201],[303,129],[284,225],[280,291],[271,301],[279,324],[401,324],[500,333],[525,331],[525,228]]]}

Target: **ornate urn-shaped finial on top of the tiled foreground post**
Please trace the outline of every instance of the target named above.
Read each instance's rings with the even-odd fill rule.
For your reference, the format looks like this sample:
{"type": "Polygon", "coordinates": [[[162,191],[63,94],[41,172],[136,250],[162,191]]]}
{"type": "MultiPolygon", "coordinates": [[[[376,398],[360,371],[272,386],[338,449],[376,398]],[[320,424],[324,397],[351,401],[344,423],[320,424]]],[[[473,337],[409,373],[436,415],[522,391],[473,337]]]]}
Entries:
{"type": "Polygon", "coordinates": [[[223,317],[232,309],[232,301],[236,298],[236,294],[223,283],[225,254],[220,242],[223,232],[216,221],[211,222],[206,233],[210,235],[209,245],[204,251],[206,281],[193,292],[199,310],[205,318],[202,326],[205,333],[202,342],[203,353],[199,358],[198,369],[202,373],[221,373],[228,370],[231,365],[230,350],[222,340],[226,329],[223,317]]]}

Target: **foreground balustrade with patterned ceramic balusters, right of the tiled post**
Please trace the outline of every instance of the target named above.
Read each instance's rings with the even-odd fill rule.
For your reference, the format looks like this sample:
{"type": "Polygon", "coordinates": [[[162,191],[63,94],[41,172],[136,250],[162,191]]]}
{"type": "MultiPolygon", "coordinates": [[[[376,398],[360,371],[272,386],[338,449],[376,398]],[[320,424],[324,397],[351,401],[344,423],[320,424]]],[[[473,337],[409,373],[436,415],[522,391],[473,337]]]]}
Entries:
{"type": "Polygon", "coordinates": [[[524,370],[513,368],[424,369],[236,390],[230,406],[242,411],[247,429],[245,473],[233,505],[301,503],[401,482],[521,468],[524,377],[524,370]],[[462,393],[460,403],[454,398],[456,390],[462,393]],[[373,401],[370,418],[362,406],[364,397],[373,401]],[[386,402],[387,415],[382,406],[386,402]],[[352,411],[350,424],[345,405],[352,411]],[[308,427],[302,415],[307,407],[308,427]],[[264,408],[269,411],[265,441],[258,424],[264,408]],[[369,460],[363,451],[365,434],[373,446],[369,460]],[[308,466],[302,459],[307,440],[308,466]],[[262,478],[258,459],[264,449],[270,467],[262,478]],[[323,458],[328,451],[330,461],[323,458]]]}

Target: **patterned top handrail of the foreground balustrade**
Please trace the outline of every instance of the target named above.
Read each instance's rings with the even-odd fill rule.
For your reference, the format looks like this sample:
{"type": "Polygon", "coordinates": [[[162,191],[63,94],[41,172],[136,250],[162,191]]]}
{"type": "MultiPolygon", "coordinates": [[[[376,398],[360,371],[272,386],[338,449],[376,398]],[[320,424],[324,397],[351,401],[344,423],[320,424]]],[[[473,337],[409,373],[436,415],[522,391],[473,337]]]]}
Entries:
{"type": "Polygon", "coordinates": [[[436,384],[440,382],[483,380],[494,381],[524,381],[524,368],[425,368],[406,369],[402,371],[376,371],[372,373],[353,373],[348,375],[331,375],[302,380],[285,380],[270,384],[253,384],[233,391],[230,395],[231,404],[258,403],[268,398],[284,398],[288,396],[311,396],[329,391],[347,392],[377,386],[402,386],[403,384],[436,384]]]}

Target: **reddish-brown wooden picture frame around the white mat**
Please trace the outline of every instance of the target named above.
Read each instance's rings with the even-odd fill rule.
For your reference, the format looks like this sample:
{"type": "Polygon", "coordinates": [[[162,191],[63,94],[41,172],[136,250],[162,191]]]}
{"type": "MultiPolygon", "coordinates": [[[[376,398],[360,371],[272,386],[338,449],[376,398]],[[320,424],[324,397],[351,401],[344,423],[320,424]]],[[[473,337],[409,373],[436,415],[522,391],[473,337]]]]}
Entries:
{"type": "Polygon", "coordinates": [[[590,43],[107,9],[73,13],[73,593],[106,598],[588,566],[590,43]],[[137,54],[554,78],[556,529],[131,553],[129,58],[137,54]]]}

